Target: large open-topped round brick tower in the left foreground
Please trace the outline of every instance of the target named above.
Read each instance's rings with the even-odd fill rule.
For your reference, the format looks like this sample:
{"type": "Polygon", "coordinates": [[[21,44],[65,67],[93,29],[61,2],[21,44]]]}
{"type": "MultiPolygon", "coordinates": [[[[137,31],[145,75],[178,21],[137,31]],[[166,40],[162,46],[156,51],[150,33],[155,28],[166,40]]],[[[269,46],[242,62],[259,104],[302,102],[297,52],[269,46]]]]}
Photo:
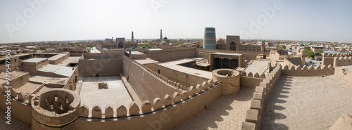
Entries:
{"type": "Polygon", "coordinates": [[[68,89],[50,89],[32,98],[32,129],[75,129],[80,96],[68,89]]]}

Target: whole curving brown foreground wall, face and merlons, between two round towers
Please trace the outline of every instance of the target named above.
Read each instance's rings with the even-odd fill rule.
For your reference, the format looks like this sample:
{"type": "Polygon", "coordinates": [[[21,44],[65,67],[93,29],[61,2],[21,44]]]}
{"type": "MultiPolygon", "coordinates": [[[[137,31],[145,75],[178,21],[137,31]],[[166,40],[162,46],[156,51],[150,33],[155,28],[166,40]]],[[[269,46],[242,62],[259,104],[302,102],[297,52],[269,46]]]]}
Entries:
{"type": "MultiPolygon", "coordinates": [[[[200,84],[197,86],[201,87],[197,89],[192,87],[190,94],[175,92],[172,98],[166,95],[164,98],[155,98],[152,103],[144,101],[142,106],[132,103],[127,109],[121,105],[115,112],[122,117],[88,118],[85,117],[88,110],[83,106],[80,108],[81,116],[75,121],[75,129],[170,129],[196,115],[221,96],[221,83],[210,80],[204,86],[200,84]]],[[[100,111],[92,110],[92,113],[101,116],[100,111]]]]}

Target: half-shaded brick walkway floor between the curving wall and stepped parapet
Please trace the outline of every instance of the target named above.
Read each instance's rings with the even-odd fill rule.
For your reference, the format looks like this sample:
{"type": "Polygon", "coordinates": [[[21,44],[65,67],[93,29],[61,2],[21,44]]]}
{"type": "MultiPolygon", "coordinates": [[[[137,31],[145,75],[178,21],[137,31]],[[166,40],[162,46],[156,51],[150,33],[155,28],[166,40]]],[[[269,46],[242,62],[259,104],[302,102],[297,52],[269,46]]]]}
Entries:
{"type": "Polygon", "coordinates": [[[251,105],[254,89],[241,89],[230,96],[221,96],[207,109],[177,124],[172,129],[241,129],[246,110],[251,105]]]}

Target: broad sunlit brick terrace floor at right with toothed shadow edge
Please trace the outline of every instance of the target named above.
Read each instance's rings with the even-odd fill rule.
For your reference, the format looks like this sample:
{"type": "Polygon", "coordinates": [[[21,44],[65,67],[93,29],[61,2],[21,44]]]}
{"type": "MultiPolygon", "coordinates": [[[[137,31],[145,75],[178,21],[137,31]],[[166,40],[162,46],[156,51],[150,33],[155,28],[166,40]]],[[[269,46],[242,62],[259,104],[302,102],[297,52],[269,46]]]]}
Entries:
{"type": "Polygon", "coordinates": [[[281,77],[264,110],[262,129],[329,129],[352,115],[352,84],[338,77],[281,77]]]}

